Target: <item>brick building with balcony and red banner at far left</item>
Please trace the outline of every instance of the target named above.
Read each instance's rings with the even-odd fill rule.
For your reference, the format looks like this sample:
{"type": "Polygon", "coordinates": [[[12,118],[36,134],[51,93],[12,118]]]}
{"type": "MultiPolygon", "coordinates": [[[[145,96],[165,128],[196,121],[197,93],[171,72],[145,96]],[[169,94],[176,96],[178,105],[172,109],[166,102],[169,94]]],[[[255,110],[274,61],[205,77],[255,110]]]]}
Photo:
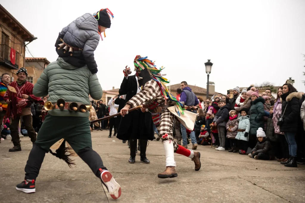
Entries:
{"type": "Polygon", "coordinates": [[[25,64],[26,42],[35,38],[2,5],[0,5],[0,76],[8,73],[11,80],[17,79],[16,72],[25,64]]]}

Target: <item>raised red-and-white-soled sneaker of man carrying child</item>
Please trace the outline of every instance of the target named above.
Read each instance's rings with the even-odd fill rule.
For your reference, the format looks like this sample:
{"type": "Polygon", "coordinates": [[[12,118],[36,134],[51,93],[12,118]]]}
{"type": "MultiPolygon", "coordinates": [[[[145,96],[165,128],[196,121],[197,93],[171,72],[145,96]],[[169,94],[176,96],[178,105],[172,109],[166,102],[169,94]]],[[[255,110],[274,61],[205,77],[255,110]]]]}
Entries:
{"type": "Polygon", "coordinates": [[[102,184],[104,184],[107,187],[110,196],[113,199],[119,198],[121,196],[120,185],[117,183],[117,181],[114,180],[113,176],[108,170],[99,169],[99,171],[100,171],[102,184]]]}

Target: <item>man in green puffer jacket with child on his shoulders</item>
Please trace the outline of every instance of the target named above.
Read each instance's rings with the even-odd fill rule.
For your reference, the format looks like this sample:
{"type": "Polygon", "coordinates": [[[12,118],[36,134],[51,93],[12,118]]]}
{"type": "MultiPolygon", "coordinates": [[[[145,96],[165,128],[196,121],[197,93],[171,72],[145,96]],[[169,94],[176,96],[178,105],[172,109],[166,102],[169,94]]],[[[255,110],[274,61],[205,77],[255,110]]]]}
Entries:
{"type": "Polygon", "coordinates": [[[99,30],[110,27],[109,16],[112,16],[112,13],[108,9],[102,9],[95,15],[86,13],[70,23],[59,34],[59,36],[62,35],[64,43],[70,43],[65,46],[73,47],[73,49],[77,47],[76,54],[74,55],[72,50],[72,56],[63,55],[63,58],[59,57],[57,61],[50,63],[34,86],[34,95],[46,96],[49,94],[48,102],[45,103],[45,108],[49,111],[29,154],[24,181],[16,186],[17,190],[25,193],[35,192],[35,180],[48,151],[66,161],[69,166],[74,164],[69,157],[73,154],[67,153],[70,148],[65,147],[67,141],[75,153],[101,179],[111,197],[113,199],[120,197],[120,185],[103,165],[99,154],[92,149],[88,121],[91,108],[89,94],[93,99],[99,100],[102,97],[102,88],[94,74],[95,68],[90,68],[92,58],[89,57],[89,62],[91,62],[88,63],[88,58],[86,59],[88,52],[85,50],[90,51],[93,57],[93,50],[99,43],[99,30]],[[83,49],[82,54],[79,53],[80,49],[83,49]],[[79,57],[80,55],[81,57],[79,57]],[[75,61],[82,61],[87,65],[77,67],[71,64],[70,62],[74,58],[75,61]],[[62,138],[64,141],[56,153],[49,150],[62,138]]]}

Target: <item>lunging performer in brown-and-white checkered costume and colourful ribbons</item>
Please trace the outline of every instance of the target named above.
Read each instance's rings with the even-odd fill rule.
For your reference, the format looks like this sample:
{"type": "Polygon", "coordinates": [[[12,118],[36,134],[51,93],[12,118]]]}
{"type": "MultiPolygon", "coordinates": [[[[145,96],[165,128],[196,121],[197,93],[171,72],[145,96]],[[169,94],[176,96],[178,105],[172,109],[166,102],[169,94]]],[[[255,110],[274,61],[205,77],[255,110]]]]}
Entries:
{"type": "Polygon", "coordinates": [[[128,109],[142,104],[144,105],[141,109],[142,112],[148,110],[153,113],[160,112],[160,125],[157,126],[157,129],[165,150],[166,170],[159,173],[158,177],[168,178],[178,176],[175,170],[174,152],[191,158],[195,163],[195,170],[199,170],[201,167],[200,153],[185,149],[174,141],[173,131],[171,129],[174,117],[167,108],[170,103],[174,103],[174,108],[177,109],[177,115],[179,117],[184,112],[182,111],[181,103],[169,93],[164,84],[164,82],[168,82],[167,79],[163,78],[164,75],[160,74],[163,67],[157,69],[156,65],[148,60],[147,57],[142,58],[139,55],[136,56],[134,64],[139,85],[144,85],[144,87],[126,103],[120,113],[126,115],[128,114],[128,109]]]}

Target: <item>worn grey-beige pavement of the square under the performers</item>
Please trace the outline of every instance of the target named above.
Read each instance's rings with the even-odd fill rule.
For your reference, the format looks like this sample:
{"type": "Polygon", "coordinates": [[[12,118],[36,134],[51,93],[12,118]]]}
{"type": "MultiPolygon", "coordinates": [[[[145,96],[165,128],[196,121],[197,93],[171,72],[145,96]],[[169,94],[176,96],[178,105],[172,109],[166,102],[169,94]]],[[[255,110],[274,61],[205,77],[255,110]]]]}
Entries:
{"type": "MultiPolygon", "coordinates": [[[[165,170],[161,141],[149,142],[150,164],[141,163],[139,156],[135,164],[129,164],[127,144],[108,138],[107,133],[93,131],[93,149],[121,185],[117,202],[305,202],[305,166],[288,168],[276,161],[199,146],[199,171],[191,159],[175,154],[178,177],[159,179],[157,174],[165,170]]],[[[0,144],[0,202],[107,202],[100,180],[79,157],[76,166],[69,168],[49,153],[36,181],[36,193],[16,191],[32,147],[28,137],[21,140],[21,152],[8,152],[13,146],[9,140],[0,144]]]]}

